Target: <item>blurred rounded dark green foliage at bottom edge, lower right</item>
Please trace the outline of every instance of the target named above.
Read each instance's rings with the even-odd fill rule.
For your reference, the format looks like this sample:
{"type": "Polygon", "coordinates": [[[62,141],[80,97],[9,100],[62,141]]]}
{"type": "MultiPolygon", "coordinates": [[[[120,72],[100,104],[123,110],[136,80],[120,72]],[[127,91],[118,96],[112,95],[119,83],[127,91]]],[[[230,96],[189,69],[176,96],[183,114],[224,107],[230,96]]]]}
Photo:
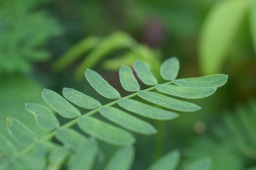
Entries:
{"type": "MultiPolygon", "coordinates": [[[[195,160],[211,157],[213,162],[212,170],[243,169],[243,159],[240,158],[241,155],[237,154],[237,151],[233,148],[236,145],[236,141],[232,140],[232,143],[223,143],[216,136],[205,135],[204,137],[195,138],[191,145],[184,148],[182,152],[184,155],[182,164],[184,166],[191,164],[195,160]]],[[[229,139],[228,133],[226,133],[225,139],[229,139]]]]}

